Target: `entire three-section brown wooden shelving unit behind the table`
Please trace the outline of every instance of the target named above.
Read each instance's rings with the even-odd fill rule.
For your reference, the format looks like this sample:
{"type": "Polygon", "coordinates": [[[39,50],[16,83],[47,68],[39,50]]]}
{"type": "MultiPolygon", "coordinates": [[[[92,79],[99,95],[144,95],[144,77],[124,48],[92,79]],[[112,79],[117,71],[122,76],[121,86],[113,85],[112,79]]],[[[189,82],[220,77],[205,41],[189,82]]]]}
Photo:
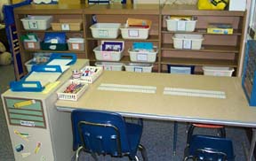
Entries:
{"type": "MultiPolygon", "coordinates": [[[[194,5],[168,5],[164,4],[109,4],[109,5],[86,5],[86,4],[40,4],[27,5],[14,10],[15,22],[19,35],[34,32],[41,37],[46,31],[24,30],[20,19],[28,15],[52,15],[53,21],[59,19],[82,19],[83,27],[81,31],[65,31],[68,37],[80,35],[84,37],[84,50],[71,51],[77,54],[78,58],[90,59],[91,65],[97,61],[93,49],[100,45],[101,41],[124,41],[124,57],[122,63],[129,63],[129,52],[132,42],[153,42],[158,47],[156,62],[153,72],[166,73],[167,65],[195,65],[196,73],[202,74],[202,66],[225,66],[235,68],[233,76],[239,76],[242,70],[244,50],[244,27],[246,12],[228,11],[198,11],[194,5]],[[167,16],[194,16],[197,19],[196,30],[189,32],[192,35],[204,35],[204,41],[200,50],[177,50],[173,48],[172,36],[174,34],[188,34],[186,32],[167,31],[167,16]],[[124,24],[128,18],[150,19],[152,27],[147,40],[126,40],[119,35],[116,39],[97,39],[92,37],[90,27],[92,19],[96,18],[99,23],[121,23],[124,24]],[[216,35],[206,32],[209,23],[229,23],[234,28],[232,35],[216,35]]],[[[21,40],[20,40],[21,44],[21,40]]],[[[21,58],[24,63],[32,58],[32,53],[36,50],[24,50],[20,45],[21,58]]],[[[39,50],[42,51],[42,50],[39,50]]],[[[44,50],[45,52],[45,50],[44,50]]],[[[52,52],[52,51],[50,51],[52,52]]],[[[54,51],[59,52],[59,51],[54,51]]],[[[63,51],[60,51],[63,52],[63,51]]],[[[70,52],[69,50],[64,52],[70,52]]],[[[17,66],[17,65],[16,65],[17,66]]],[[[21,78],[23,75],[17,76],[21,78]]]]}

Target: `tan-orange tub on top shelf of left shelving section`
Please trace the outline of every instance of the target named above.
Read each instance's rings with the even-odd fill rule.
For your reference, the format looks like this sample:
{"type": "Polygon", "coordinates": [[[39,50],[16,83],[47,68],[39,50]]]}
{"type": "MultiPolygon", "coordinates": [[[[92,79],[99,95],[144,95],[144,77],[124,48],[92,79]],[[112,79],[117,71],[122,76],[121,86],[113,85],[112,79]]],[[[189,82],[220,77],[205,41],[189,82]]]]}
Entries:
{"type": "Polygon", "coordinates": [[[54,31],[80,31],[82,19],[60,19],[59,22],[51,24],[54,31]]]}

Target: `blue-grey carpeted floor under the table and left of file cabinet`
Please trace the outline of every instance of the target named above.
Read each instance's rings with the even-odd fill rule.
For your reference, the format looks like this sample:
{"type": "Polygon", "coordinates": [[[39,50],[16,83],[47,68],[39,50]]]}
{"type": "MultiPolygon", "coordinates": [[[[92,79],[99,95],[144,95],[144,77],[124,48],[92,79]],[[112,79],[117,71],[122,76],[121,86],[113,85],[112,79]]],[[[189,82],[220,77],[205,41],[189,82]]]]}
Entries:
{"type": "MultiPolygon", "coordinates": [[[[0,65],[0,90],[1,94],[8,88],[10,80],[14,80],[12,65],[0,65]]],[[[173,123],[170,121],[156,121],[144,119],[144,129],[141,143],[146,147],[149,161],[180,161],[183,158],[183,151],[186,142],[186,123],[179,123],[177,153],[172,153],[173,123]]],[[[212,130],[196,130],[198,134],[212,134],[212,130]]],[[[13,161],[11,141],[4,117],[2,102],[0,101],[0,161],[13,161]]],[[[227,127],[227,137],[232,139],[236,153],[236,161],[245,161],[244,145],[249,147],[244,128],[227,127]]],[[[139,155],[140,156],[140,155],[139,155]]],[[[99,157],[100,160],[128,160],[124,158],[99,157]]],[[[81,153],[79,160],[92,160],[89,154],[81,153]]]]}

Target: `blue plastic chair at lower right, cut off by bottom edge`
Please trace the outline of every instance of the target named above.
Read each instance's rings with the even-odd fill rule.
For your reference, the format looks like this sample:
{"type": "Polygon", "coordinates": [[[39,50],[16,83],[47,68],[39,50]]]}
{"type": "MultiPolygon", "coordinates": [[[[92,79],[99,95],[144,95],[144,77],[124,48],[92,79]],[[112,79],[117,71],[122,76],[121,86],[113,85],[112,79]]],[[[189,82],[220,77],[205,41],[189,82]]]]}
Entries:
{"type": "Polygon", "coordinates": [[[184,152],[184,161],[234,161],[233,143],[228,138],[192,135],[184,152]]]}

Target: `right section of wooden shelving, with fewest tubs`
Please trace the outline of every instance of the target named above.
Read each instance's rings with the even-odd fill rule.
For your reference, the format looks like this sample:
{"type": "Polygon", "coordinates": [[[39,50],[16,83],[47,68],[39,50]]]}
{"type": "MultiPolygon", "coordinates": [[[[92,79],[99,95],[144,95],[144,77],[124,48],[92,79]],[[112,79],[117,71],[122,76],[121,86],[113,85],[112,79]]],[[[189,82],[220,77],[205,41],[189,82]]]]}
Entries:
{"type": "Polygon", "coordinates": [[[244,46],[245,12],[228,11],[198,11],[193,5],[171,6],[164,5],[161,10],[161,72],[166,70],[167,64],[195,65],[196,73],[202,73],[203,65],[226,66],[235,68],[234,76],[241,72],[243,63],[242,52],[244,46]],[[166,28],[167,16],[196,17],[194,32],[170,32],[166,28]],[[209,23],[228,23],[234,28],[232,35],[216,35],[206,32],[209,23]],[[174,34],[203,35],[204,41],[200,50],[176,50],[173,48],[174,34]]]}

